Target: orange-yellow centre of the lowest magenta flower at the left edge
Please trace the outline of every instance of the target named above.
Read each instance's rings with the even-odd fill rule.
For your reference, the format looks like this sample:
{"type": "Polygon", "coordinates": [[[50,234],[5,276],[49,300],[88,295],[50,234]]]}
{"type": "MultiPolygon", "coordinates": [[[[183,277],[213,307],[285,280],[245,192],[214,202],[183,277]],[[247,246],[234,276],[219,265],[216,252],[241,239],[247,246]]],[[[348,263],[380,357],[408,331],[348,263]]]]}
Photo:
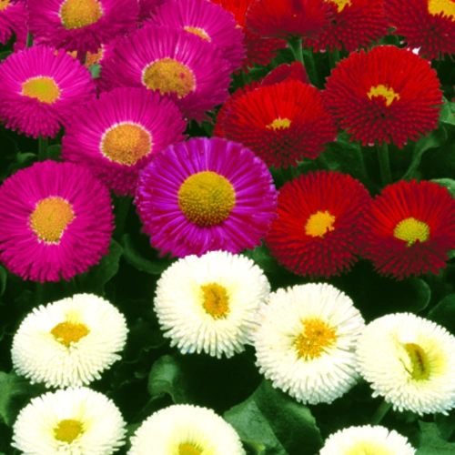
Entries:
{"type": "Polygon", "coordinates": [[[30,227],[40,240],[58,243],[73,219],[75,212],[69,202],[61,197],[46,197],[36,204],[30,215],[30,227]]]}

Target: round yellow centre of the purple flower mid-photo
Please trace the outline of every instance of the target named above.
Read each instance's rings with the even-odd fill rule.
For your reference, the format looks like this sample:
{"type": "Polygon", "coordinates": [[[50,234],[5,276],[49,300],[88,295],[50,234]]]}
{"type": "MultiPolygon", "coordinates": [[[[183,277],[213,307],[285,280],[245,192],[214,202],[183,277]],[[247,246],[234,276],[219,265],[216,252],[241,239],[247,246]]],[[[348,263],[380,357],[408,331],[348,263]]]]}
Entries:
{"type": "Polygon", "coordinates": [[[235,205],[234,187],[216,172],[198,172],[188,177],[178,190],[178,207],[197,226],[221,224],[235,205]]]}

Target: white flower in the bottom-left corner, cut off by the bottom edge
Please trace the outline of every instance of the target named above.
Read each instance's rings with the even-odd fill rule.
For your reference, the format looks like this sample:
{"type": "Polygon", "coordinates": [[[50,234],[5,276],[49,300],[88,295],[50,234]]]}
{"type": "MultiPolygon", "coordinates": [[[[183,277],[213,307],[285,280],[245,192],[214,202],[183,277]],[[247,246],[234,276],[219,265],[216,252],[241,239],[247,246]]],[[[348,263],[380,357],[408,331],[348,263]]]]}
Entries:
{"type": "Polygon", "coordinates": [[[87,388],[47,392],[20,411],[12,446],[26,454],[110,455],[125,443],[126,423],[111,399],[87,388]]]}

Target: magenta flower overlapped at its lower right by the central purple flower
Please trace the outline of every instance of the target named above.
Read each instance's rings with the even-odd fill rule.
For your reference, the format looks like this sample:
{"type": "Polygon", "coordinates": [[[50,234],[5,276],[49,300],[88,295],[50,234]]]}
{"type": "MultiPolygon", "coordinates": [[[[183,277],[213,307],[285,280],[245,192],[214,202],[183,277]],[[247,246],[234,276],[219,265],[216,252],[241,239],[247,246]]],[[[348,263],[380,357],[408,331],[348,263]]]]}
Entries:
{"type": "Polygon", "coordinates": [[[78,111],[62,141],[62,156],[87,167],[118,196],[134,196],[139,170],[185,139],[177,106],[146,88],[102,93],[78,111]]]}

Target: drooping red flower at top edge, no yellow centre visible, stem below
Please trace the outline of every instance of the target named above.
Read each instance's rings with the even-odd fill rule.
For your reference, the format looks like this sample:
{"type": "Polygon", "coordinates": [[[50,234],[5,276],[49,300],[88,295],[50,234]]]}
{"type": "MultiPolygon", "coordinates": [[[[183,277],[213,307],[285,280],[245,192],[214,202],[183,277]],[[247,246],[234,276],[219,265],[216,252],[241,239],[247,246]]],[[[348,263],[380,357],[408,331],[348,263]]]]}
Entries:
{"type": "Polygon", "coordinates": [[[258,35],[284,38],[316,36],[329,25],[331,9],[320,0],[257,0],[247,13],[247,26],[258,35]]]}

